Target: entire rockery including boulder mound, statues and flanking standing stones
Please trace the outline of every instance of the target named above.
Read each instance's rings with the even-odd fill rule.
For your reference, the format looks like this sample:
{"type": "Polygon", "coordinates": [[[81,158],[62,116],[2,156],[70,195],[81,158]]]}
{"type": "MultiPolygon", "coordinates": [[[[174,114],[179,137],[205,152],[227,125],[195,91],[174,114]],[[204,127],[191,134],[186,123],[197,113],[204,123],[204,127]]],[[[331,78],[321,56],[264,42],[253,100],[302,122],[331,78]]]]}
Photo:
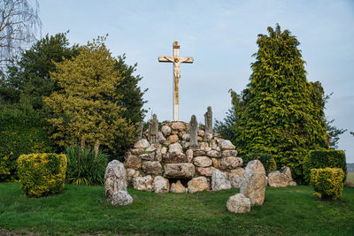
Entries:
{"type": "MultiPolygon", "coordinates": [[[[209,113],[208,113],[209,112],[209,113]]],[[[211,114],[205,114],[205,129],[198,126],[196,117],[190,123],[164,123],[158,129],[156,115],[149,129],[141,133],[134,148],[125,156],[124,164],[114,160],[104,175],[105,195],[114,205],[127,205],[133,198],[127,193],[127,183],[137,190],[154,193],[196,193],[240,187],[240,194],[231,196],[227,209],[235,213],[250,211],[265,199],[266,185],[296,186],[289,167],[266,171],[258,160],[250,161],[243,169],[242,158],[231,141],[212,133],[211,114]],[[208,125],[209,124],[209,125],[208,125]],[[127,171],[126,171],[127,170],[127,171]]]]}

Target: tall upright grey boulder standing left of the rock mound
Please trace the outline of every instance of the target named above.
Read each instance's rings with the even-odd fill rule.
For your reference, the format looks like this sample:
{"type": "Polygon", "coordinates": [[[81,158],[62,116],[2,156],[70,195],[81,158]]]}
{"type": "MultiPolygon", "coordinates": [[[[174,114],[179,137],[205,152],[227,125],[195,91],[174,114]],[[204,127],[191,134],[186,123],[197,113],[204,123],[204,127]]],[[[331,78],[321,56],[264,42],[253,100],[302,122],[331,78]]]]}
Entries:
{"type": "Polygon", "coordinates": [[[124,164],[113,160],[105,169],[104,193],[106,198],[112,199],[112,195],[119,190],[127,190],[127,171],[124,164]]]}

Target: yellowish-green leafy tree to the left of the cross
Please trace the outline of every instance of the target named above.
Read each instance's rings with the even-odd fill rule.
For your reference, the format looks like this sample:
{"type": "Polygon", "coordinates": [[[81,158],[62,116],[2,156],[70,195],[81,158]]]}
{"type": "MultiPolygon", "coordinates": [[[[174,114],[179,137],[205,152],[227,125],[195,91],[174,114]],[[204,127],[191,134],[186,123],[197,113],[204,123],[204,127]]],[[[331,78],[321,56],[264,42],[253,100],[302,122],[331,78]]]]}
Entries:
{"type": "Polygon", "coordinates": [[[116,93],[122,77],[104,40],[89,42],[50,72],[58,90],[43,100],[55,115],[48,119],[55,128],[51,138],[61,147],[86,141],[96,150],[100,144],[112,149],[119,138],[134,139],[134,126],[121,115],[126,110],[119,105],[122,95],[116,93]]]}

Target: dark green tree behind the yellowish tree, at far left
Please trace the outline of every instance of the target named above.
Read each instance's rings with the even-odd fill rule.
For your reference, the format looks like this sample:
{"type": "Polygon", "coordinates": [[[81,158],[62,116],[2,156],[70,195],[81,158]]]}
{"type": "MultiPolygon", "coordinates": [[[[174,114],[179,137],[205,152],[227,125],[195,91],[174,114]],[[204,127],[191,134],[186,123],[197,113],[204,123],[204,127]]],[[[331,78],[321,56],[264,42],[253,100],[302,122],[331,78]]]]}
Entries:
{"type": "Polygon", "coordinates": [[[56,90],[55,81],[50,80],[54,63],[65,58],[76,57],[79,46],[69,46],[66,33],[46,35],[31,49],[24,51],[19,61],[8,68],[7,80],[0,87],[4,100],[10,103],[29,103],[35,110],[42,111],[42,96],[56,90]]]}

